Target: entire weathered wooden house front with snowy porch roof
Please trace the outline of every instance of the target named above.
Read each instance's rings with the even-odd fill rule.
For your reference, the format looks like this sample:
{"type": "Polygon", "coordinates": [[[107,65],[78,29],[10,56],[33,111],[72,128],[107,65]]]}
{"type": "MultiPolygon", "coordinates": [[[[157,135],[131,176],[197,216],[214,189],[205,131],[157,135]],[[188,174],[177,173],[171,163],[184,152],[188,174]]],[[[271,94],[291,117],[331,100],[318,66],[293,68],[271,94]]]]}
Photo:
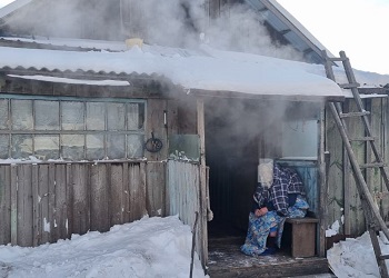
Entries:
{"type": "MultiPolygon", "coordinates": [[[[56,242],[146,215],[179,215],[193,226],[198,212],[196,247],[206,268],[210,237],[245,235],[261,158],[302,177],[310,216],[319,221],[318,257],[326,256],[326,229],[342,208],[361,221],[350,221],[345,234],[362,231],[358,197],[345,192],[341,140],[326,111],[327,101],[345,96],[312,73],[321,69],[320,46],[275,1],[205,1],[194,8],[180,1],[178,18],[184,30],[207,33],[236,7],[248,9],[281,52],[292,48],[298,60],[318,64],[186,48],[143,28],[150,7],[137,1],[49,2],[30,1],[2,14],[0,244],[56,242]],[[52,12],[37,20],[41,6],[52,12]],[[80,14],[60,28],[56,14],[74,7],[80,14]],[[57,33],[72,40],[52,38],[57,33]],[[129,49],[130,37],[143,44],[129,49]],[[231,60],[227,69],[220,62],[223,59],[231,60]]],[[[366,101],[385,145],[387,98],[366,101]]],[[[381,207],[387,214],[383,201],[381,207]]]]}

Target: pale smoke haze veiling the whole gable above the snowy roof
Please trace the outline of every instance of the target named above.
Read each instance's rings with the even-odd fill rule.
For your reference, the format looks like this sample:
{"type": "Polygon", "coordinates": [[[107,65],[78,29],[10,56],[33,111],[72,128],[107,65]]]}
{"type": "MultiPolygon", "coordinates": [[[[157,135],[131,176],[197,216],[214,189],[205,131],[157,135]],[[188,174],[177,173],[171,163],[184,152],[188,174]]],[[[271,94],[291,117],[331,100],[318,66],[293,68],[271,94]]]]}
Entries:
{"type": "Polygon", "coordinates": [[[263,19],[251,8],[229,3],[211,9],[210,2],[43,0],[22,8],[9,23],[19,33],[122,41],[140,37],[149,44],[196,49],[208,43],[222,50],[302,60],[293,48],[271,39],[263,19]]]}

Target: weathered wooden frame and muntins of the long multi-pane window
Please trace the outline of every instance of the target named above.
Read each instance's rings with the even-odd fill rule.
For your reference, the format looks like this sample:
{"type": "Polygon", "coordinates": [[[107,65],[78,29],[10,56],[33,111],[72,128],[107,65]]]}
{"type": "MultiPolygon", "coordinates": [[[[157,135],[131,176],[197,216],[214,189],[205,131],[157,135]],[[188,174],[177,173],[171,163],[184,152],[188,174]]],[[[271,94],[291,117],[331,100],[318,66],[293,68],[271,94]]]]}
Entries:
{"type": "MultiPolygon", "coordinates": [[[[139,158],[143,158],[144,157],[144,150],[142,149],[141,151],[141,157],[129,157],[129,146],[128,146],[128,137],[129,136],[139,136],[140,137],[140,142],[144,143],[144,138],[146,138],[146,126],[147,126],[147,100],[144,99],[124,99],[124,98],[76,98],[76,97],[51,97],[51,96],[20,96],[20,95],[3,95],[0,93],[0,100],[7,100],[7,109],[8,109],[8,121],[7,121],[7,127],[2,127],[3,129],[0,129],[0,136],[8,136],[8,158],[2,158],[2,159],[27,159],[26,157],[12,157],[12,139],[14,136],[31,136],[32,137],[32,150],[31,150],[31,155],[33,157],[37,157],[37,151],[39,152],[39,150],[36,149],[36,136],[58,136],[59,138],[59,146],[58,146],[58,153],[59,153],[59,158],[58,160],[64,160],[64,161],[94,161],[94,160],[120,160],[120,159],[126,159],[126,160],[133,160],[133,159],[139,159],[139,158]],[[32,129],[30,130],[23,130],[23,129],[18,129],[14,130],[13,129],[13,125],[12,125],[12,100],[31,100],[31,108],[32,108],[32,129]],[[59,117],[59,123],[58,123],[58,129],[48,129],[48,130],[42,130],[39,129],[37,130],[36,126],[37,126],[37,118],[36,118],[36,101],[56,101],[58,102],[58,117],[59,117]],[[62,125],[62,115],[63,115],[63,105],[62,102],[78,102],[81,103],[82,107],[82,117],[83,117],[83,122],[82,129],[66,129],[63,128],[62,125]],[[87,107],[88,103],[102,103],[103,107],[103,130],[88,130],[87,129],[87,107]],[[124,117],[124,127],[122,130],[114,130],[114,129],[110,129],[108,127],[108,122],[109,122],[109,105],[108,103],[117,103],[118,107],[120,107],[121,105],[123,105],[124,107],[124,112],[123,112],[123,117],[124,117]],[[138,105],[138,129],[132,130],[128,128],[128,121],[129,121],[129,115],[131,115],[129,112],[129,105],[138,105]],[[82,158],[81,159],[69,159],[69,158],[63,158],[63,148],[64,147],[69,147],[69,146],[63,146],[62,143],[62,136],[67,136],[67,135],[76,135],[76,136],[82,136],[83,137],[83,153],[82,153],[82,158]],[[88,159],[88,145],[87,145],[87,137],[88,136],[102,136],[103,138],[103,146],[102,146],[102,152],[103,152],[103,158],[89,158],[88,159]],[[109,153],[113,153],[109,150],[109,138],[110,136],[120,136],[123,135],[123,139],[124,139],[124,157],[117,157],[117,158],[109,158],[108,155],[109,153]],[[142,138],[141,138],[142,137],[142,138]]],[[[81,113],[80,113],[81,115],[81,113]]],[[[112,122],[112,121],[111,121],[112,122]]],[[[74,125],[78,125],[77,122],[74,122],[74,125]]],[[[4,155],[4,153],[0,153],[4,155]]],[[[38,155],[39,156],[39,155],[38,155]]],[[[2,157],[2,156],[1,156],[2,157]]],[[[38,157],[37,157],[38,158],[38,157]]],[[[49,158],[50,159],[50,158],[49,158]]],[[[47,160],[47,159],[42,159],[42,160],[47,160]]],[[[56,160],[56,159],[51,159],[51,160],[56,160]]]]}

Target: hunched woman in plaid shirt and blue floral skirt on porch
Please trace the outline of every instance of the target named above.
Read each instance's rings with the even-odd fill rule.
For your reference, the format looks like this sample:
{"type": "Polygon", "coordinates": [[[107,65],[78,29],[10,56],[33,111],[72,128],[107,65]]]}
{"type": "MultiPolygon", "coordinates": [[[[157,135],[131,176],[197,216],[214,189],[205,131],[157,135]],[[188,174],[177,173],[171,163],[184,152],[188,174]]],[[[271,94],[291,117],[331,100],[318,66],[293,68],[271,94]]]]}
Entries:
{"type": "Polygon", "coordinates": [[[287,217],[303,218],[309,208],[298,173],[272,160],[259,165],[259,183],[253,193],[253,207],[245,245],[240,250],[249,256],[271,255],[280,248],[287,217]]]}

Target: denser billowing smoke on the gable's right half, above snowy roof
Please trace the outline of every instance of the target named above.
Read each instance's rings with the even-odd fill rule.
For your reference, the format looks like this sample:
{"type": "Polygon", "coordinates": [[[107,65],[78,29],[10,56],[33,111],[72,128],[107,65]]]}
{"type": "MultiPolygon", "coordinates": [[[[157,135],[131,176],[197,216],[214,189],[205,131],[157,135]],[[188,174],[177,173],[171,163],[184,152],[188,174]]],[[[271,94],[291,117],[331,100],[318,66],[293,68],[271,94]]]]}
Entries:
{"type": "Polygon", "coordinates": [[[206,42],[222,50],[302,60],[293,48],[275,42],[263,19],[247,6],[226,6],[215,19],[208,12],[205,0],[142,0],[130,7],[123,21],[127,34],[137,37],[141,29],[151,44],[197,48],[206,42]]]}

